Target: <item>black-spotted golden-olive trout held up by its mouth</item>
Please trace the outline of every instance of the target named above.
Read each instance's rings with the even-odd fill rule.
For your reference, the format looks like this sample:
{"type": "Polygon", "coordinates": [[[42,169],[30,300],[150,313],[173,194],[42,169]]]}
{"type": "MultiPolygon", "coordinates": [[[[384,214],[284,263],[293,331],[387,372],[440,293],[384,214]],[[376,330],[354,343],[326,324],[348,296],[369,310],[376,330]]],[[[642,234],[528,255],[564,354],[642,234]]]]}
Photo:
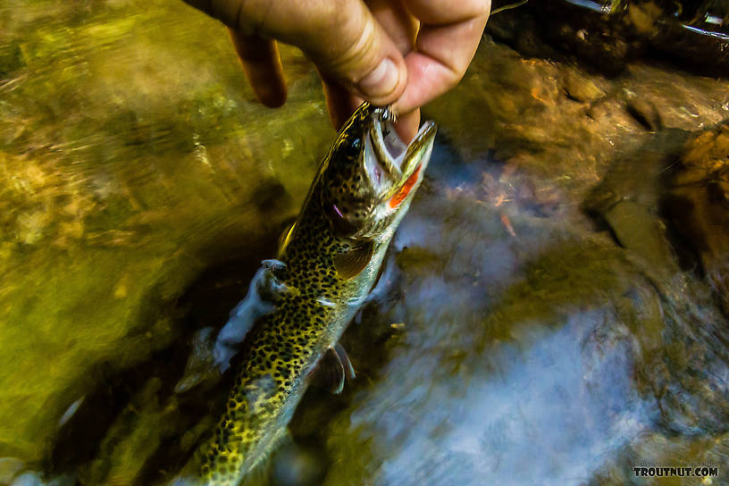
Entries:
{"type": "Polygon", "coordinates": [[[269,456],[324,356],[334,356],[338,390],[354,375],[339,338],[373,289],[437,130],[425,121],[405,144],[394,121],[389,107],[356,109],[319,165],[278,256],[264,261],[256,292],[267,312],[238,330],[245,335],[239,369],[203,450],[200,483],[238,485],[269,456]]]}

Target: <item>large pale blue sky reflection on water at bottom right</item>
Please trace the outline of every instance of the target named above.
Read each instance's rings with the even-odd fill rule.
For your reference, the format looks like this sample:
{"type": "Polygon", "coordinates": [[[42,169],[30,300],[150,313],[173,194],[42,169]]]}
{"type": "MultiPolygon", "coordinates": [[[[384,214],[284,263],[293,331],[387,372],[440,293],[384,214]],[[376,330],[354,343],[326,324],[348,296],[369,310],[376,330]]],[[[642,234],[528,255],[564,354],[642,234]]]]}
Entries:
{"type": "Polygon", "coordinates": [[[395,438],[402,444],[383,462],[378,483],[589,480],[655,415],[654,404],[631,384],[629,334],[595,340],[605,314],[573,314],[558,331],[537,331],[519,348],[496,351],[488,365],[473,363],[460,393],[438,385],[421,390],[402,380],[398,368],[427,369],[428,356],[394,360],[389,374],[402,381],[393,394],[400,396],[399,389],[404,399],[384,408],[375,404],[387,398],[376,394],[362,404],[373,415],[353,416],[355,426],[377,417],[375,433],[382,434],[385,451],[395,438]],[[498,373],[483,373],[494,367],[498,373]]]}

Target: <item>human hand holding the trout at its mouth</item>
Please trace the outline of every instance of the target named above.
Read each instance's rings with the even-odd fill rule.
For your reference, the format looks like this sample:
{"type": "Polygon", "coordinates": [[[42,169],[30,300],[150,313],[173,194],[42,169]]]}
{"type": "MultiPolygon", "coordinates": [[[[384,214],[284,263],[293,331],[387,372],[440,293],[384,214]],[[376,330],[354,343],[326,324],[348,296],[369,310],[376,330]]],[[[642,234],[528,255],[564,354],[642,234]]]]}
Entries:
{"type": "Polygon", "coordinates": [[[391,104],[406,140],[420,106],[463,77],[490,11],[490,0],[184,1],[228,26],[264,105],[286,101],[280,40],[316,65],[336,128],[364,99],[391,104]]]}

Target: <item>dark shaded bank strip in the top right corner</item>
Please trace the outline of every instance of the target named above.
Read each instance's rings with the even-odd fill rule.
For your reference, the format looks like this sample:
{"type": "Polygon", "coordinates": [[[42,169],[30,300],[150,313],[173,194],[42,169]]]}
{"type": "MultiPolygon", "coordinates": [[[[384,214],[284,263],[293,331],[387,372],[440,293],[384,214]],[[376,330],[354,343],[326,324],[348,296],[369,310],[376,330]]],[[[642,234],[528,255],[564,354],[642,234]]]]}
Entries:
{"type": "Polygon", "coordinates": [[[729,6],[721,0],[532,1],[495,15],[487,29],[526,55],[577,58],[608,75],[646,57],[705,75],[729,72],[729,6]]]}

